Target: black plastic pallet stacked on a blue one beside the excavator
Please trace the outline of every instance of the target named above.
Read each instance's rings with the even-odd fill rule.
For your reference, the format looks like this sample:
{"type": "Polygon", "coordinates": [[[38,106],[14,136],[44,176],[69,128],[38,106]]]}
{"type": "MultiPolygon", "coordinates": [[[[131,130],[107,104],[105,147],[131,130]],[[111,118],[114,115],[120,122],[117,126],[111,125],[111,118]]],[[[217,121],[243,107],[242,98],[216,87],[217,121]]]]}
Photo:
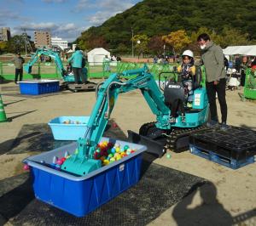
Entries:
{"type": "Polygon", "coordinates": [[[241,127],[215,127],[192,133],[189,146],[191,153],[235,169],[254,162],[256,132],[241,127]]]}

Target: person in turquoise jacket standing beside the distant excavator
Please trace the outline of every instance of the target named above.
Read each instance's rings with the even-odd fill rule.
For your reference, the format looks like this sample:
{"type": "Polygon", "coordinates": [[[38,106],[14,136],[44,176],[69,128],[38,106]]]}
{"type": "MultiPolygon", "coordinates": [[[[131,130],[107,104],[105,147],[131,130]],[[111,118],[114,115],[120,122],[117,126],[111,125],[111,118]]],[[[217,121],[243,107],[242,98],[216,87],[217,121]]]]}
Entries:
{"type": "Polygon", "coordinates": [[[76,84],[79,84],[80,81],[82,81],[83,83],[86,82],[82,71],[83,59],[84,54],[80,51],[79,47],[76,47],[75,52],[69,59],[67,59],[67,62],[73,62],[72,68],[76,84]]]}

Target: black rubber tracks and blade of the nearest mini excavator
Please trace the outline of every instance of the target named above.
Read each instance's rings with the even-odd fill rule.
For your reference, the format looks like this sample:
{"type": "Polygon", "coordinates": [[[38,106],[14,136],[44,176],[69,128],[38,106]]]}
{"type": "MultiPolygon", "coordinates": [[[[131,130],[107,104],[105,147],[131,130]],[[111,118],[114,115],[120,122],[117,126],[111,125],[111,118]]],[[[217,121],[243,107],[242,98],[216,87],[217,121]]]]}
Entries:
{"type": "Polygon", "coordinates": [[[189,135],[201,130],[209,129],[206,126],[193,128],[173,127],[170,131],[160,130],[155,127],[155,121],[143,124],[139,134],[128,131],[128,139],[137,144],[144,144],[148,152],[162,156],[166,150],[181,152],[189,149],[189,135]]]}

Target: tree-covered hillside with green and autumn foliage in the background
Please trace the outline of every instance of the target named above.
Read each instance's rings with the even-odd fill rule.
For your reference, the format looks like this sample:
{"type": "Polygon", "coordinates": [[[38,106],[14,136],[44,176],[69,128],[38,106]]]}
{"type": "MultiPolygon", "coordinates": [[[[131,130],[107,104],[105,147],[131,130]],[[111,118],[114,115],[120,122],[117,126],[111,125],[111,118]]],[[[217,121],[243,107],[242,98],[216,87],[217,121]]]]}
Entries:
{"type": "Polygon", "coordinates": [[[256,1],[144,0],[102,25],[82,32],[76,43],[86,50],[103,47],[113,54],[131,54],[132,40],[139,37],[140,45],[134,42],[137,54],[142,51],[157,54],[163,52],[164,45],[166,51],[180,52],[182,48],[195,48],[196,35],[207,31],[222,48],[255,44],[255,18],[256,1]],[[185,33],[188,39],[185,45],[173,46],[169,41],[170,34],[176,37],[175,32],[177,37],[185,33]]]}

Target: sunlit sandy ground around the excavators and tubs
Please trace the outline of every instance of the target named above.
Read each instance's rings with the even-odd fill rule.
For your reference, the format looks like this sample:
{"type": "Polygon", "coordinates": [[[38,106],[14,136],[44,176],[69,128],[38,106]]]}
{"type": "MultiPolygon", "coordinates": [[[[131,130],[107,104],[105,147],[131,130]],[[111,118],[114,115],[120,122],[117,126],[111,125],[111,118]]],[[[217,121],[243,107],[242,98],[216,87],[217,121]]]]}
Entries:
{"type": "MultiPolygon", "coordinates": [[[[6,114],[8,117],[13,117],[11,122],[0,123],[1,150],[12,144],[24,124],[48,123],[57,116],[89,116],[96,102],[94,92],[67,91],[65,94],[39,99],[7,95],[15,92],[12,90],[14,87],[14,83],[0,84],[6,114]],[[10,90],[3,89],[6,87],[10,90]]],[[[256,103],[241,101],[238,93],[242,93],[242,89],[227,92],[228,123],[256,130],[256,103]]],[[[143,95],[138,91],[121,94],[111,117],[125,134],[128,129],[138,132],[143,123],[155,121],[143,95]]],[[[0,155],[0,180],[21,173],[22,170],[17,170],[17,167],[22,167],[20,161],[27,155],[0,155]]],[[[204,192],[196,190],[183,201],[163,212],[149,225],[214,225],[214,219],[220,218],[235,219],[233,222],[238,225],[256,225],[255,163],[232,170],[191,155],[189,151],[171,153],[171,155],[170,159],[163,156],[154,162],[206,178],[212,184],[205,186],[204,192]],[[212,191],[214,198],[210,199],[212,195],[207,194],[212,191]],[[202,195],[203,193],[205,196],[202,195]],[[183,206],[183,211],[179,212],[177,210],[180,206],[183,206]],[[221,212],[218,211],[220,209],[221,212]]],[[[224,221],[221,224],[228,225],[224,221]]]]}

